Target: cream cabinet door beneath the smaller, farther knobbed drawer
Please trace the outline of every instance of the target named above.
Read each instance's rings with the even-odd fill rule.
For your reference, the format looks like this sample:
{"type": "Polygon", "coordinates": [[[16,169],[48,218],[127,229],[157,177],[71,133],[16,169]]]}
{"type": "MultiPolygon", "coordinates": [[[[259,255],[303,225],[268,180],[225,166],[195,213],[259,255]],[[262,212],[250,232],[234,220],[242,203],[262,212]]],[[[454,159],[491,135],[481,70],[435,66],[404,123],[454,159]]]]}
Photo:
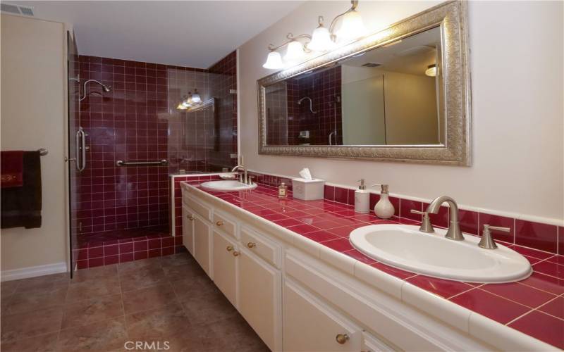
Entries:
{"type": "Polygon", "coordinates": [[[235,242],[219,232],[213,232],[214,282],[227,299],[237,306],[237,255],[235,242]]]}

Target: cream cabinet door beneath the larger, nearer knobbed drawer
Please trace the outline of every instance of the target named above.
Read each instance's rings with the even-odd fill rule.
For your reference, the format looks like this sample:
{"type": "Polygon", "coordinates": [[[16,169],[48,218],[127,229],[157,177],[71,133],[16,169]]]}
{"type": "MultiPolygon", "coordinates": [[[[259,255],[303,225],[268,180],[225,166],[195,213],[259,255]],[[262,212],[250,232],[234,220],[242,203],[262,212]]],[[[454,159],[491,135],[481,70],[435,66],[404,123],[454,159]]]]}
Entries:
{"type": "Polygon", "coordinates": [[[250,251],[239,256],[239,311],[271,351],[281,350],[281,272],[250,251]]]}

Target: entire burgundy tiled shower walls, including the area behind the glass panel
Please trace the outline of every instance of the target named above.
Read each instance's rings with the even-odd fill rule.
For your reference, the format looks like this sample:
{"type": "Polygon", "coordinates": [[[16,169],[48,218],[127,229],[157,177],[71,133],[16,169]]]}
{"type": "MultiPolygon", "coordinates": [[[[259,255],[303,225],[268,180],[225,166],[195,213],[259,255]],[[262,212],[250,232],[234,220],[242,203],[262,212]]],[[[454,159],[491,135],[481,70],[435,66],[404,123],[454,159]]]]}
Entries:
{"type": "Polygon", "coordinates": [[[235,73],[235,52],[209,70],[80,56],[80,81],[100,80],[111,86],[111,92],[89,83],[87,97],[80,103],[81,125],[88,133],[90,151],[87,167],[78,177],[80,202],[73,206],[79,234],[168,225],[168,173],[177,172],[180,164],[171,170],[168,166],[118,167],[116,161],[190,160],[195,154],[195,139],[186,135],[198,136],[200,125],[197,118],[192,119],[194,113],[178,113],[176,105],[181,95],[193,92],[193,88],[198,88],[202,99],[211,97],[208,75],[214,77],[212,82],[218,81],[214,82],[214,94],[226,106],[216,108],[217,115],[204,118],[214,127],[212,138],[199,144],[208,153],[191,165],[187,163],[185,169],[205,172],[234,165],[236,159],[229,157],[237,153],[237,110],[236,95],[229,94],[229,89],[236,89],[235,73]],[[169,84],[172,79],[184,88],[175,90],[176,86],[169,84]],[[183,137],[178,139],[178,149],[173,149],[169,134],[176,131],[183,137]],[[183,153],[171,153],[178,150],[183,153]]]}

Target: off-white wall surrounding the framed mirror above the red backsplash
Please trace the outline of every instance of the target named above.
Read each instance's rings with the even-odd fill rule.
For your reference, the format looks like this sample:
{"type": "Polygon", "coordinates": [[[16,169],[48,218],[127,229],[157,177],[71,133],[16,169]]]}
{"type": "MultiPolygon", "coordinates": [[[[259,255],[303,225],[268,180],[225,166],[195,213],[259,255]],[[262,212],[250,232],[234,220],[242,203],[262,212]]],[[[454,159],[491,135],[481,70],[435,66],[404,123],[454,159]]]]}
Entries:
{"type": "MultiPolygon", "coordinates": [[[[361,1],[371,30],[438,4],[361,1]]],[[[240,47],[240,141],[249,168],[314,177],[353,186],[360,177],[388,183],[391,192],[431,199],[448,194],[462,206],[564,218],[563,3],[472,1],[469,10],[472,77],[472,166],[259,156],[257,86],[269,43],[287,32],[309,33],[317,15],[333,18],[348,1],[310,1],[240,47]],[[354,170],[354,172],[351,172],[354,170]]]]}

